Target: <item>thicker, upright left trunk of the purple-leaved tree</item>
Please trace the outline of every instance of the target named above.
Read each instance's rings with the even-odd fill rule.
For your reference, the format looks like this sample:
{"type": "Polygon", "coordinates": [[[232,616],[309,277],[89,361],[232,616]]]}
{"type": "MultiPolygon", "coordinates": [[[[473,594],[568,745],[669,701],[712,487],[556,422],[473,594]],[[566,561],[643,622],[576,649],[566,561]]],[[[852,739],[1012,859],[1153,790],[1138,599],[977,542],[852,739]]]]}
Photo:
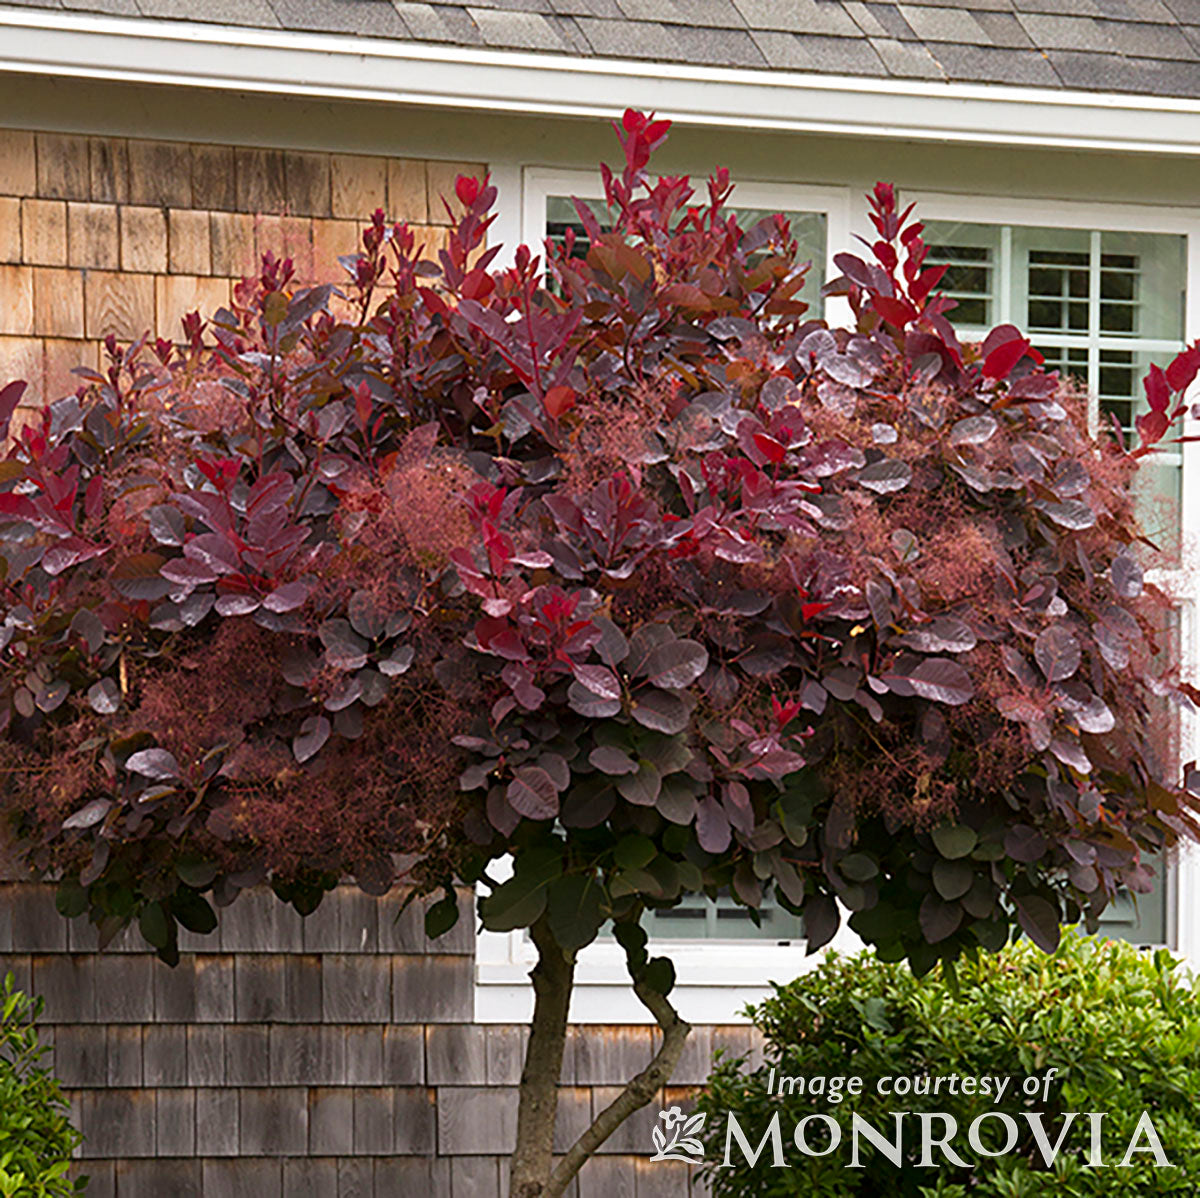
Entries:
{"type": "Polygon", "coordinates": [[[530,970],[534,1006],[521,1073],[517,1144],[512,1154],[510,1198],[544,1198],[553,1168],[558,1082],[566,1047],[566,1012],[575,984],[575,954],[565,953],[542,916],[529,934],[538,947],[530,970]]]}

